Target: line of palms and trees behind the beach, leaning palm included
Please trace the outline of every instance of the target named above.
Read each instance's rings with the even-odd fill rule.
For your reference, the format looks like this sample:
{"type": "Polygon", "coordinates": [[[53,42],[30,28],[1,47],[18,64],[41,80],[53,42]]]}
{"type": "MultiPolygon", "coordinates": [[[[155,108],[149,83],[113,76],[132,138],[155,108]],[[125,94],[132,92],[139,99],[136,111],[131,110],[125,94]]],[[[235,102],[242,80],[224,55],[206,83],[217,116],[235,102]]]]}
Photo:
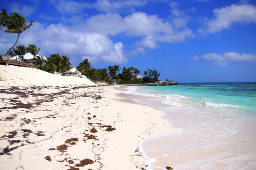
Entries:
{"type": "MultiPolygon", "coordinates": [[[[17,45],[15,47],[20,34],[29,29],[32,25],[33,20],[30,20],[30,22],[26,25],[26,18],[24,16],[20,16],[17,12],[13,12],[8,15],[4,8],[1,9],[0,29],[3,30],[2,27],[6,27],[6,33],[18,34],[16,42],[10,49],[8,49],[5,55],[20,55],[24,61],[24,55],[29,52],[34,56],[33,60],[36,60],[36,68],[50,73],[61,72],[63,75],[65,75],[65,72],[68,72],[72,67],[69,57],[65,55],[60,56],[57,53],[50,55],[50,57],[47,59],[44,59],[37,55],[40,51],[40,47],[37,48],[34,44],[29,44],[28,47],[25,47],[25,45],[17,45]]],[[[120,84],[157,82],[158,77],[160,76],[160,73],[158,73],[156,69],[153,68],[152,70],[148,68],[147,71],[144,71],[145,76],[142,79],[138,79],[136,76],[140,74],[140,70],[137,68],[123,67],[122,72],[120,72],[121,68],[119,68],[118,65],[108,66],[108,68],[96,69],[91,66],[88,59],[84,59],[83,62],[79,63],[78,66],[76,66],[76,69],[79,70],[81,74],[87,76],[90,80],[104,80],[106,82],[116,82],[120,84]]]]}

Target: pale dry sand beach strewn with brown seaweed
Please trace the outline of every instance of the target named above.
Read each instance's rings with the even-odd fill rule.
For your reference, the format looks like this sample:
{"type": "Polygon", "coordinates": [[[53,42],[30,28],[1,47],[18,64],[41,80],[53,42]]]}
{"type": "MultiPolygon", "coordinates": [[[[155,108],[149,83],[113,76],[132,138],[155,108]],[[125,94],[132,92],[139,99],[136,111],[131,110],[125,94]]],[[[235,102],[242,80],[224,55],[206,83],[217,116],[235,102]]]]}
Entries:
{"type": "Polygon", "coordinates": [[[162,111],[120,97],[125,86],[91,86],[88,79],[17,66],[0,65],[0,73],[0,169],[67,170],[88,158],[94,163],[76,168],[139,170],[146,167],[137,143],[170,130],[159,118],[162,111]],[[106,131],[106,125],[116,130],[106,131]],[[49,150],[72,138],[76,145],[49,150]]]}

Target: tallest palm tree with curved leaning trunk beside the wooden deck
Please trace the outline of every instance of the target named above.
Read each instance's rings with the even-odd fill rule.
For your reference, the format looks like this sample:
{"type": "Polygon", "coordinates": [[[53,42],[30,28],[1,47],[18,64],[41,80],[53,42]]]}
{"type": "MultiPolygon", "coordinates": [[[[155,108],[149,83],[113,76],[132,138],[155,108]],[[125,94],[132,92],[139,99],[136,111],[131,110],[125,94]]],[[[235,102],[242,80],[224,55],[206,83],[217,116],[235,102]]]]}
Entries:
{"type": "MultiPolygon", "coordinates": [[[[26,25],[26,18],[23,16],[20,16],[17,12],[12,13],[6,20],[3,21],[2,24],[4,27],[7,27],[5,32],[7,33],[18,33],[18,37],[14,45],[9,49],[12,50],[12,48],[16,45],[18,42],[18,39],[20,37],[20,34],[24,31],[26,31],[29,27],[33,25],[33,20],[30,21],[28,25],[26,25]]],[[[8,52],[5,54],[7,55],[8,52]]]]}

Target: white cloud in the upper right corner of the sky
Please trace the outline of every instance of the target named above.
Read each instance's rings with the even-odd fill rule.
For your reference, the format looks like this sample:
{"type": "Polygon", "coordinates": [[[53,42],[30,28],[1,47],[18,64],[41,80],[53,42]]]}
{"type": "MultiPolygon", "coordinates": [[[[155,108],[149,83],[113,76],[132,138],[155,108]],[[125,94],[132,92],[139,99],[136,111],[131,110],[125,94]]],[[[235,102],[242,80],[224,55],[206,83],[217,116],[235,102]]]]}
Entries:
{"type": "Polygon", "coordinates": [[[215,19],[208,20],[208,32],[215,33],[228,29],[235,23],[256,23],[256,6],[241,4],[213,10],[215,19]]]}

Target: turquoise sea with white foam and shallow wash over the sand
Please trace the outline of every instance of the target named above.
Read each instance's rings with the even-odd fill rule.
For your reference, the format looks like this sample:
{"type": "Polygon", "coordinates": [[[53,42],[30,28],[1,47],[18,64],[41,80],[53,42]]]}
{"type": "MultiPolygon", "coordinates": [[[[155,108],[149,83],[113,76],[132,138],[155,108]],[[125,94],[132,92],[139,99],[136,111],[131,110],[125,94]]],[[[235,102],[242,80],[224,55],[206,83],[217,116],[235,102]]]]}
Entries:
{"type": "Polygon", "coordinates": [[[146,170],[256,169],[256,83],[129,86],[125,93],[161,109],[170,125],[138,143],[146,170]]]}

